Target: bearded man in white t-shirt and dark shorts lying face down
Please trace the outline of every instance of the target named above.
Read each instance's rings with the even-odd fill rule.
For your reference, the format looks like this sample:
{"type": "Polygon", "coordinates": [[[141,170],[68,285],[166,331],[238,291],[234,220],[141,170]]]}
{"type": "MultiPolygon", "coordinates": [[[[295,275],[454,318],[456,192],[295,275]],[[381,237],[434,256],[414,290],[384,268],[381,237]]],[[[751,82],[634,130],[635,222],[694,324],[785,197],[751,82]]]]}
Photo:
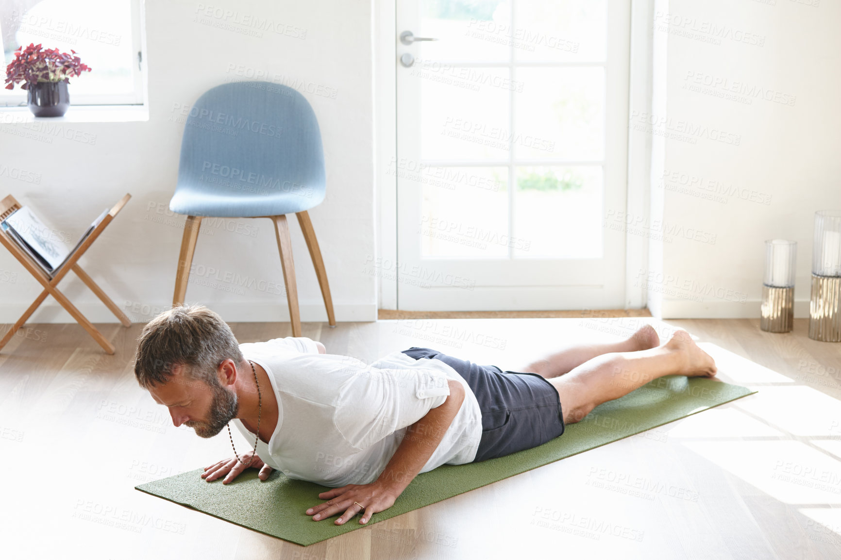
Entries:
{"type": "Polygon", "coordinates": [[[655,378],[712,376],[716,365],[684,330],[661,345],[645,325],[625,341],[576,346],[522,370],[429,348],[366,365],[304,337],[238,344],[218,314],[198,305],[145,325],[135,359],[140,386],[174,425],[212,437],[232,422],[254,441],[202,478],[230,483],[253,467],[261,480],[278,469],[334,487],[306,514],[338,514],[336,525],[360,512],[368,522],[418,473],[539,446],[655,378]]]}

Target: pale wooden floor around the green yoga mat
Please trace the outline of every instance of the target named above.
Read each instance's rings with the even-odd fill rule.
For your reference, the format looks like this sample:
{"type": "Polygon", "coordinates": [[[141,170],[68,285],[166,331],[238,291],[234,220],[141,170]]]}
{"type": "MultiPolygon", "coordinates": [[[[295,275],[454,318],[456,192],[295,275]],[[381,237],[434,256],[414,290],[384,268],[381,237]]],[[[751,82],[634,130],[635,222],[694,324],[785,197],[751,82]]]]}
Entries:
{"type": "MultiPolygon", "coordinates": [[[[785,335],[759,320],[593,316],[304,324],[304,335],[366,361],[429,346],[516,371],[643,322],[689,330],[722,380],[759,394],[305,548],[133,489],[230,456],[224,433],[174,428],[138,388],[139,325],[101,325],[114,356],[77,325],[29,325],[0,351],[0,556],[841,557],[841,344],[810,340],[806,320],[785,335]]],[[[232,327],[241,342],[291,334],[232,327]]]]}

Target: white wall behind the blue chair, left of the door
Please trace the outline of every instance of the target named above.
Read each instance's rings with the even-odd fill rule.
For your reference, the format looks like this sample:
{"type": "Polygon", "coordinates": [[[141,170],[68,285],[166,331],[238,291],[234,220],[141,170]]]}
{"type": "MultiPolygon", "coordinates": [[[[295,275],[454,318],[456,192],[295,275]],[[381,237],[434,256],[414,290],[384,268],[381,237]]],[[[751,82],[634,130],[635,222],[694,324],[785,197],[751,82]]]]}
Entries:
{"type": "MultiPolygon", "coordinates": [[[[40,184],[0,174],[0,196],[12,193],[50,218],[56,229],[76,233],[102,209],[131,193],[130,203],[83,257],[82,267],[133,320],[149,320],[172,302],[182,237],[179,225],[184,220],[167,215],[183,130],[173,108],[189,106],[220,83],[246,79],[236,76],[240,66],[266,71],[269,79],[279,75],[279,82],[297,84],[321,127],[327,198],[310,210],[310,216],[331,282],[336,318],[375,320],[376,278],[362,272],[374,255],[371,3],[213,3],[216,8],[273,18],[296,28],[289,34],[264,31],[262,38],[195,21],[200,3],[146,0],[145,5],[149,121],[65,125],[95,135],[95,145],[62,137],[49,142],[44,134],[23,138],[19,133],[32,132],[33,124],[0,124],[0,166],[40,174],[40,184]],[[299,38],[301,30],[304,39],[299,38]]],[[[212,230],[213,235],[199,235],[194,263],[204,277],[193,278],[215,280],[215,274],[210,278],[206,272],[213,267],[220,271],[215,282],[221,289],[191,283],[188,301],[207,304],[226,320],[288,320],[285,297],[270,293],[275,290],[266,285],[283,285],[272,223],[242,219],[231,227],[236,222],[256,227],[256,236],[221,228],[212,230]],[[241,288],[242,293],[226,291],[240,288],[225,283],[228,272],[251,277],[255,287],[241,288]]],[[[302,320],[326,320],[297,220],[290,216],[290,222],[302,320]]],[[[60,288],[91,320],[114,321],[72,273],[60,288]]],[[[38,293],[34,279],[0,251],[0,322],[16,320],[38,293]]],[[[70,322],[71,318],[48,298],[33,320],[70,322]]]]}

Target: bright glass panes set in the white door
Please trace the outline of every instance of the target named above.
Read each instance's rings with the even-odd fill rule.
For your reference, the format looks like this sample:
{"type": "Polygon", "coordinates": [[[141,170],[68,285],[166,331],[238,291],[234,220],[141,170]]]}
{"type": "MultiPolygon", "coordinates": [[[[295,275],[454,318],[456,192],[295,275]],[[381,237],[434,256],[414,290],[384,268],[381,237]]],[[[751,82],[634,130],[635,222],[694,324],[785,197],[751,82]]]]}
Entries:
{"type": "Polygon", "coordinates": [[[415,47],[408,71],[420,78],[419,159],[486,186],[426,183],[421,223],[512,241],[424,235],[421,256],[601,258],[607,0],[420,3],[420,22],[407,29],[438,40],[415,47]]]}

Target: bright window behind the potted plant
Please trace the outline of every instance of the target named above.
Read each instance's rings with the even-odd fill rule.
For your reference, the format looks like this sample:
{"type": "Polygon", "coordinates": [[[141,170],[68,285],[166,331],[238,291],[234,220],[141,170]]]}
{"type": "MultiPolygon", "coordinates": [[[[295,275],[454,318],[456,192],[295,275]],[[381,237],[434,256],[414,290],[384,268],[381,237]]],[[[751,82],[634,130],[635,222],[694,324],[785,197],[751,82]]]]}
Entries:
{"type": "MultiPolygon", "coordinates": [[[[77,52],[92,68],[70,79],[74,105],[143,103],[145,67],[140,37],[141,0],[0,0],[0,37],[5,67],[20,45],[77,52]]],[[[26,91],[0,88],[0,107],[26,104],[26,91]]]]}

